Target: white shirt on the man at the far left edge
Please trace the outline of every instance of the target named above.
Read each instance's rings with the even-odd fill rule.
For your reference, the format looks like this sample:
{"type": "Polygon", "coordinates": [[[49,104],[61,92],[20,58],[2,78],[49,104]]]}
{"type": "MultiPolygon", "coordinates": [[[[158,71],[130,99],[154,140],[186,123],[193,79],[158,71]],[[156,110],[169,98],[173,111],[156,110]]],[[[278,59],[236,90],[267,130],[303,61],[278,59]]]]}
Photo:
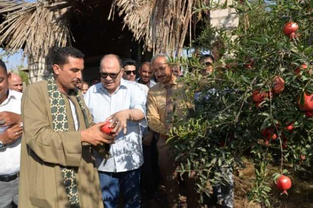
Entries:
{"type": "MultiPolygon", "coordinates": [[[[0,104],[0,112],[9,111],[21,114],[22,93],[9,90],[8,98],[0,104]]],[[[0,127],[2,134],[8,126],[0,127]]],[[[21,158],[21,138],[16,142],[6,145],[6,148],[0,149],[0,175],[12,174],[20,171],[21,158]]]]}

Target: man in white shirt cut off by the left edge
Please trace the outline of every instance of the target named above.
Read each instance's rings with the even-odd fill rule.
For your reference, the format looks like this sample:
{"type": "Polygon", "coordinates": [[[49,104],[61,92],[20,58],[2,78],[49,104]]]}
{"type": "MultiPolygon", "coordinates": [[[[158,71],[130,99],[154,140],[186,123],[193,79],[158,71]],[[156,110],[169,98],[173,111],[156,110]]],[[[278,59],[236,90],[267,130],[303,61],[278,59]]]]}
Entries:
{"type": "Polygon", "coordinates": [[[8,73],[0,60],[0,208],[17,207],[21,156],[22,93],[8,89],[8,73]]]}

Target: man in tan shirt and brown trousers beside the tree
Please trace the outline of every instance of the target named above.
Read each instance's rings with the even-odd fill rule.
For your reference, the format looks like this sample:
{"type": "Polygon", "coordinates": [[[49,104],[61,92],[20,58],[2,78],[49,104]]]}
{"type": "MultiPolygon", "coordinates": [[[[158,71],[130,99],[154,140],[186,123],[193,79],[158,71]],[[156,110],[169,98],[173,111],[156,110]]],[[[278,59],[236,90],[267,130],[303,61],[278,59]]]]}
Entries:
{"type": "MultiPolygon", "coordinates": [[[[158,163],[165,184],[169,208],[177,208],[179,204],[179,191],[177,180],[178,164],[171,146],[166,144],[171,123],[171,114],[175,113],[182,118],[182,104],[177,95],[182,90],[182,85],[176,82],[176,76],[172,73],[167,63],[166,54],[157,54],[151,60],[151,67],[159,81],[150,88],[147,100],[147,118],[149,127],[160,134],[157,141],[158,163]]],[[[187,205],[188,208],[199,207],[197,202],[197,191],[194,179],[185,179],[187,183],[187,205]]]]}

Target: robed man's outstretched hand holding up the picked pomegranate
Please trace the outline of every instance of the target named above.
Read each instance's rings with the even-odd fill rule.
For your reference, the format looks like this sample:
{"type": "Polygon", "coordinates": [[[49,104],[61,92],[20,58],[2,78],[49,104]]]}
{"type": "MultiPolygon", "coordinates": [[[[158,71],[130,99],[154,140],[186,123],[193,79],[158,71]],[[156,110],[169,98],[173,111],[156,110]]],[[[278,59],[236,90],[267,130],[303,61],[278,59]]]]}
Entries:
{"type": "Polygon", "coordinates": [[[115,138],[113,136],[100,131],[100,127],[105,123],[101,122],[81,131],[81,141],[93,146],[114,143],[115,138]]]}

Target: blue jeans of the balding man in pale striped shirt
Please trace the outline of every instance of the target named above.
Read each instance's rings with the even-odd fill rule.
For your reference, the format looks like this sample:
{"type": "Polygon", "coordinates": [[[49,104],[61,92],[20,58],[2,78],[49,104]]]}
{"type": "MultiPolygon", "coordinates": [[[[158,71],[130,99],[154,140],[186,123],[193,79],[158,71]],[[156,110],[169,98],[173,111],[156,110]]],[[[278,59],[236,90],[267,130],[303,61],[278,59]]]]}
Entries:
{"type": "Polygon", "coordinates": [[[99,179],[105,208],[118,208],[120,192],[125,208],[140,208],[140,167],[117,173],[99,171],[99,179]]]}

